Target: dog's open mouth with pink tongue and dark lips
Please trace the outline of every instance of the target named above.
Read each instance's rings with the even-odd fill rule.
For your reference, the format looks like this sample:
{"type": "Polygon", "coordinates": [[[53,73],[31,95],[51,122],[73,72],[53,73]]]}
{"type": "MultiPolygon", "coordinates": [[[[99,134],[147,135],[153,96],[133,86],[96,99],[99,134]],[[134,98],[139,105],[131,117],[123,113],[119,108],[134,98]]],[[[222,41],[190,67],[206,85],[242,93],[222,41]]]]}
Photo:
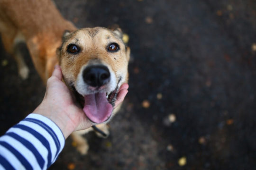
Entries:
{"type": "Polygon", "coordinates": [[[112,92],[95,90],[95,93],[84,96],[78,93],[75,87],[72,86],[77,102],[81,105],[85,115],[91,122],[99,124],[110,119],[119,90],[119,82],[112,92]]]}

